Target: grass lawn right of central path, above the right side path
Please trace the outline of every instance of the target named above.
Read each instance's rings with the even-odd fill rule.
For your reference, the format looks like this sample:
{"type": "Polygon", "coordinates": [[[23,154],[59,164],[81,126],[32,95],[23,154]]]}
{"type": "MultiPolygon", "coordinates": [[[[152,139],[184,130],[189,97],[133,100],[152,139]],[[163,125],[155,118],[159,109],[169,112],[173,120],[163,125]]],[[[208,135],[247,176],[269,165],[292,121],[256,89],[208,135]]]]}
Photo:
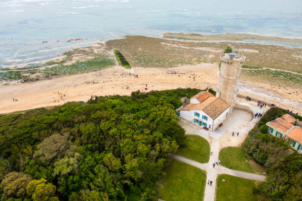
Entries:
{"type": "Polygon", "coordinates": [[[220,151],[219,159],[221,165],[229,169],[253,173],[262,173],[265,171],[261,166],[255,164],[255,167],[252,167],[246,162],[250,159],[246,156],[243,147],[226,147],[220,151]]]}

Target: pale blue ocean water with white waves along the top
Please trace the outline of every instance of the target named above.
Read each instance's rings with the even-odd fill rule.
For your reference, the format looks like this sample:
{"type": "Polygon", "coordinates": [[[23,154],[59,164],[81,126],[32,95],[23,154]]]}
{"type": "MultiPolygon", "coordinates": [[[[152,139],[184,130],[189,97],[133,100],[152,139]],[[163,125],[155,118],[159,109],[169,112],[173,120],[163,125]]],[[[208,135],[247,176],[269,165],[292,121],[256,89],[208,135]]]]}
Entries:
{"type": "Polygon", "coordinates": [[[0,0],[0,67],[164,32],[302,38],[302,0],[0,0]],[[83,40],[67,42],[72,38],[83,40]]]}

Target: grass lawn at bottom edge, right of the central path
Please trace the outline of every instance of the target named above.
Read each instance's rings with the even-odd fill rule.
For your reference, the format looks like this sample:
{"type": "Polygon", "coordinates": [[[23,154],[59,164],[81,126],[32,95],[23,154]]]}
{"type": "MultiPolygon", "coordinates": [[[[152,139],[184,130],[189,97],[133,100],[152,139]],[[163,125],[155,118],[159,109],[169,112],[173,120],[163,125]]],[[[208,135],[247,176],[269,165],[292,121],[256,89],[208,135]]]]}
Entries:
{"type": "Polygon", "coordinates": [[[220,174],[216,182],[216,201],[257,201],[253,194],[256,181],[220,174]]]}

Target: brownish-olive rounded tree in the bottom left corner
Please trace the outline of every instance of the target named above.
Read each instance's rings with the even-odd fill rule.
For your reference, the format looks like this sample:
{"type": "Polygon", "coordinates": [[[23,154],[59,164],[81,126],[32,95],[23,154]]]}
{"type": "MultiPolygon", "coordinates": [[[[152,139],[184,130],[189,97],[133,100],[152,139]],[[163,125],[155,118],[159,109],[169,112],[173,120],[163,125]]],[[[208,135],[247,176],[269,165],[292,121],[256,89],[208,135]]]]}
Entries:
{"type": "Polygon", "coordinates": [[[33,178],[29,174],[9,172],[0,183],[0,189],[4,197],[25,198],[27,197],[26,186],[31,180],[33,178]]]}

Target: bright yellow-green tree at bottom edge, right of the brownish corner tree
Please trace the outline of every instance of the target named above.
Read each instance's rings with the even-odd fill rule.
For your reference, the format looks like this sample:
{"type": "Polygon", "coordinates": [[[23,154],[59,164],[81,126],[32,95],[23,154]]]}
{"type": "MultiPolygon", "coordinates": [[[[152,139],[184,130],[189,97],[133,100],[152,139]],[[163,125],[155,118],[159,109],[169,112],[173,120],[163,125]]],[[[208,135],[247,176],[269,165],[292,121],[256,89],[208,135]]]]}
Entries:
{"type": "Polygon", "coordinates": [[[56,187],[52,183],[46,184],[43,178],[30,181],[26,191],[29,196],[32,196],[33,201],[59,201],[57,197],[54,197],[56,187]]]}

